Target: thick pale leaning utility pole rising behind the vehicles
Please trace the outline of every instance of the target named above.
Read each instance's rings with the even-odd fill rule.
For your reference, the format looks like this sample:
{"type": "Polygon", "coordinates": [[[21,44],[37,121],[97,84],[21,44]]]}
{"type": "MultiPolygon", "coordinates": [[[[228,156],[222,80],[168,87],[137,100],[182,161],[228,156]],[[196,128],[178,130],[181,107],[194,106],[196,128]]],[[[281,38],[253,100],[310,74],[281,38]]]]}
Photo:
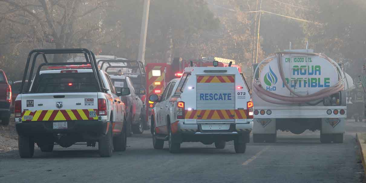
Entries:
{"type": "Polygon", "coordinates": [[[149,8],[150,8],[150,0],[145,0],[145,2],[143,3],[141,34],[140,34],[140,43],[137,57],[137,60],[142,61],[143,64],[145,64],[145,46],[146,46],[146,34],[147,34],[147,22],[149,20],[149,8]]]}

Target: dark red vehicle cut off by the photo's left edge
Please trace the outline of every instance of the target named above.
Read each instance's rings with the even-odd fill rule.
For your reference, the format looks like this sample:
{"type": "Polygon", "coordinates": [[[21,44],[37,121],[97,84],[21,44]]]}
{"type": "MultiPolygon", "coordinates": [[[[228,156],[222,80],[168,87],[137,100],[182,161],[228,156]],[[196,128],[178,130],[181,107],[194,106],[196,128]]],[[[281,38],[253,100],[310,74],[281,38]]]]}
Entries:
{"type": "Polygon", "coordinates": [[[8,125],[10,122],[11,84],[13,81],[8,80],[5,72],[0,70],[0,119],[3,125],[8,125]]]}

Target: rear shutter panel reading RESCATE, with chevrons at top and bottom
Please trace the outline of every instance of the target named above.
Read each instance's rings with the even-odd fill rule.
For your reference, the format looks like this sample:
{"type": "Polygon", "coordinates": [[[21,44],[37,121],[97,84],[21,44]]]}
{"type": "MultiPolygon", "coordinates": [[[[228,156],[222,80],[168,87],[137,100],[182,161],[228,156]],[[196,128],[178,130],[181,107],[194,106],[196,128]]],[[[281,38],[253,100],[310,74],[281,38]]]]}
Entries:
{"type": "Polygon", "coordinates": [[[235,75],[197,75],[197,122],[235,121],[235,75]]]}

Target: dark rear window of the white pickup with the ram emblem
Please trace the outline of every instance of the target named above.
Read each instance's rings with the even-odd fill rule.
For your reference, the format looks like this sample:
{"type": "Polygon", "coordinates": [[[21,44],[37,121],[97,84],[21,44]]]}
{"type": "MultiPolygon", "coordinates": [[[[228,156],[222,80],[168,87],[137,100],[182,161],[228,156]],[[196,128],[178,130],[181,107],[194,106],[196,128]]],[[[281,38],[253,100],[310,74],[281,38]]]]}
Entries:
{"type": "Polygon", "coordinates": [[[32,92],[98,92],[98,83],[93,72],[41,74],[32,92]]]}

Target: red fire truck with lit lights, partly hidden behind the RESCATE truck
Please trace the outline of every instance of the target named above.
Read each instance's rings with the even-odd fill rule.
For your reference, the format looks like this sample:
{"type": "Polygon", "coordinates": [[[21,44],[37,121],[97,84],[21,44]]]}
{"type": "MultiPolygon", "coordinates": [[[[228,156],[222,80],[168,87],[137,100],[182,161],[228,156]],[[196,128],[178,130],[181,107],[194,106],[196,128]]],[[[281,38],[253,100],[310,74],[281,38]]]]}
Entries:
{"type": "MultiPolygon", "coordinates": [[[[180,78],[186,67],[213,67],[212,62],[219,61],[217,67],[236,67],[241,73],[241,68],[235,64],[235,60],[224,59],[220,57],[202,57],[198,60],[185,60],[175,57],[171,64],[169,63],[148,63],[146,64],[146,98],[152,94],[159,97],[163,93],[165,86],[174,78],[180,78]]],[[[146,115],[151,122],[150,112],[154,107],[154,102],[149,101],[146,105],[146,115]]]]}

